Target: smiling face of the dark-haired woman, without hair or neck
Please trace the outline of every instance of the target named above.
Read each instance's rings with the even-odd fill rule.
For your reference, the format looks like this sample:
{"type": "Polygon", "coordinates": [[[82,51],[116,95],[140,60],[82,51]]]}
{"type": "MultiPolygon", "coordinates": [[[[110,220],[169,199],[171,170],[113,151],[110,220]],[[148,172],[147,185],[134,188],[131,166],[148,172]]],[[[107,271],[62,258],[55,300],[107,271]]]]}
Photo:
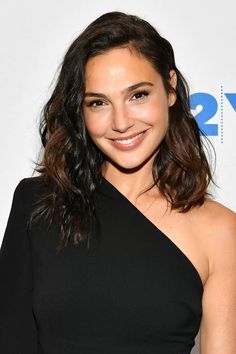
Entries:
{"type": "MultiPolygon", "coordinates": [[[[170,74],[175,86],[175,73],[170,74]]],[[[175,94],[167,95],[150,62],[128,48],[97,55],[86,65],[84,120],[108,164],[130,170],[151,161],[174,102],[175,94]]]]}

